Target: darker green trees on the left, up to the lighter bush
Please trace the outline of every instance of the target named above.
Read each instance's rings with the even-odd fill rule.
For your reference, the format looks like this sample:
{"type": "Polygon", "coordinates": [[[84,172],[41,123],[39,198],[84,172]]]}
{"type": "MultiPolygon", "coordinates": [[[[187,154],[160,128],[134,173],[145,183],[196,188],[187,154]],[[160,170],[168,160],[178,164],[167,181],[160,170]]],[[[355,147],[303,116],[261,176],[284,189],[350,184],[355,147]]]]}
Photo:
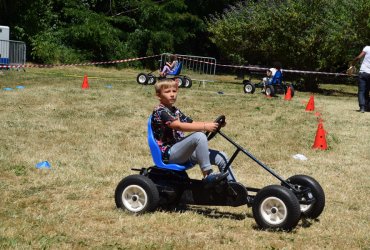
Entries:
{"type": "Polygon", "coordinates": [[[212,54],[205,17],[235,0],[2,0],[0,24],[39,63],[104,61],[164,52],[212,54]]]}

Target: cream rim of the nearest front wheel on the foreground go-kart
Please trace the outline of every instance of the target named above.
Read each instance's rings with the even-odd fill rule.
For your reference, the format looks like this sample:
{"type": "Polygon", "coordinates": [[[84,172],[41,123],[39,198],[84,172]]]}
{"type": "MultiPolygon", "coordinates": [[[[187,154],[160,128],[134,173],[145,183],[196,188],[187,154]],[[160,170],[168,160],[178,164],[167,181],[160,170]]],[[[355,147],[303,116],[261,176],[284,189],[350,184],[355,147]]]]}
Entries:
{"type": "Polygon", "coordinates": [[[266,198],[261,204],[260,212],[263,219],[271,225],[282,223],[288,215],[285,203],[277,197],[266,198]]]}

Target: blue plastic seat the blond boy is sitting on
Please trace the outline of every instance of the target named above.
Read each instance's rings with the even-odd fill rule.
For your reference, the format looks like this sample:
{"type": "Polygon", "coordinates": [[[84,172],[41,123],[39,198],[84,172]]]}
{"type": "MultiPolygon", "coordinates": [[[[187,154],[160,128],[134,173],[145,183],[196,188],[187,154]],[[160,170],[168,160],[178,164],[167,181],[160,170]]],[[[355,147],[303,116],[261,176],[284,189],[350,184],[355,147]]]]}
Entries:
{"type": "Polygon", "coordinates": [[[150,152],[152,154],[154,164],[159,168],[176,170],[176,171],[185,171],[193,167],[193,165],[189,162],[185,165],[178,165],[178,164],[165,164],[162,161],[162,152],[159,149],[156,139],[154,138],[153,129],[152,129],[152,116],[149,116],[148,119],[148,144],[150,148],[150,152]]]}

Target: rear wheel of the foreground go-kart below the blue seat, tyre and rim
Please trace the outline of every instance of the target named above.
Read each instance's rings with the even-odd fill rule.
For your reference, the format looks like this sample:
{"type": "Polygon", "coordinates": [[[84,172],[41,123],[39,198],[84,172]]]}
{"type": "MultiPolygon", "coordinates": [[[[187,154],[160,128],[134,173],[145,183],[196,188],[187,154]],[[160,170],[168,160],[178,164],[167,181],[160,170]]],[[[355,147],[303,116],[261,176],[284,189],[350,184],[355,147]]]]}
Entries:
{"type": "Polygon", "coordinates": [[[142,214],[157,209],[158,189],[148,177],[130,175],[117,185],[114,194],[116,206],[132,213],[142,214]]]}

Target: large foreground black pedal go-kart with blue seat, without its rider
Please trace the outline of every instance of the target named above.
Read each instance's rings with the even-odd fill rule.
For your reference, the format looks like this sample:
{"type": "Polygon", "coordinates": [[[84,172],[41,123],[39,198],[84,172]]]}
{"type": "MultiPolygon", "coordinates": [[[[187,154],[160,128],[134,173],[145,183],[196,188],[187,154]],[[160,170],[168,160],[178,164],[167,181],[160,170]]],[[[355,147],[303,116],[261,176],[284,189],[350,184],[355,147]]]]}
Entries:
{"type": "Polygon", "coordinates": [[[280,183],[263,188],[247,187],[226,179],[215,183],[191,179],[186,170],[193,165],[165,164],[154,139],[151,117],[148,119],[148,143],[154,166],[132,170],[139,174],[123,178],[115,190],[118,208],[135,214],[155,211],[180,205],[243,206],[252,207],[253,217],[262,229],[294,229],[301,217],[315,219],[325,207],[325,194],[320,184],[310,176],[294,175],[284,179],[271,168],[256,159],[221,130],[225,116],[216,119],[218,130],[207,133],[208,140],[221,135],[236,147],[225,171],[242,152],[273,175],[280,183]]]}

